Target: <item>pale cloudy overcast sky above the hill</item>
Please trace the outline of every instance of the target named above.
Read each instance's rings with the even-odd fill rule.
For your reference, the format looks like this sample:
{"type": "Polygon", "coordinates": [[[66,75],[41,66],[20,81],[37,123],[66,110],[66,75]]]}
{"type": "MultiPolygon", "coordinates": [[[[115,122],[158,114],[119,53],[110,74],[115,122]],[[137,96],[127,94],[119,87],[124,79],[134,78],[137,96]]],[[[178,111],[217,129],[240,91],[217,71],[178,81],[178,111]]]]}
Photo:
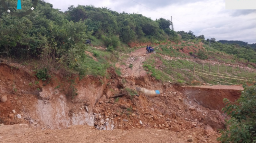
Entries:
{"type": "Polygon", "coordinates": [[[61,11],[70,5],[94,5],[113,11],[139,13],[155,20],[171,19],[175,31],[193,31],[196,36],[216,40],[256,43],[256,10],[225,10],[225,0],[45,0],[61,11]],[[149,7],[152,11],[138,3],[149,7]],[[167,16],[169,15],[169,16],[167,16]],[[181,21],[181,22],[180,22],[181,21]],[[185,23],[185,24],[184,24],[185,23]]]}

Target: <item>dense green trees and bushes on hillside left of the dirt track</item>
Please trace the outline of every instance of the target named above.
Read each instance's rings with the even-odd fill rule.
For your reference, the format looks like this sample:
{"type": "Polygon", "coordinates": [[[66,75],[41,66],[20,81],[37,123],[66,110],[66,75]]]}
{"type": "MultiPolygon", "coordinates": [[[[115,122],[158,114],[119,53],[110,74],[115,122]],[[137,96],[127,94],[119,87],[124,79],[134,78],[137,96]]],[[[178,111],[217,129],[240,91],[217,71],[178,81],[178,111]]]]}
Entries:
{"type": "MultiPolygon", "coordinates": [[[[11,11],[16,2],[8,3],[11,11]]],[[[29,9],[29,0],[22,1],[22,10],[29,9]]],[[[129,42],[158,42],[178,37],[169,27],[170,20],[151,20],[141,14],[127,14],[111,11],[106,7],[70,6],[66,12],[52,8],[52,4],[38,2],[36,10],[25,17],[14,17],[0,7],[0,54],[1,57],[20,59],[41,59],[41,67],[68,67],[80,74],[92,73],[93,66],[85,50],[93,51],[98,60],[97,68],[106,69],[108,62],[116,61],[118,54],[113,50],[127,51],[129,42]],[[87,46],[86,39],[93,45],[108,48],[102,51],[87,46]],[[103,56],[100,56],[103,55],[103,56]]],[[[19,61],[20,61],[19,60],[19,61]]],[[[97,64],[93,64],[97,65],[97,64]]],[[[95,70],[95,69],[94,69],[95,70]]],[[[101,74],[104,75],[102,71],[101,74]]]]}

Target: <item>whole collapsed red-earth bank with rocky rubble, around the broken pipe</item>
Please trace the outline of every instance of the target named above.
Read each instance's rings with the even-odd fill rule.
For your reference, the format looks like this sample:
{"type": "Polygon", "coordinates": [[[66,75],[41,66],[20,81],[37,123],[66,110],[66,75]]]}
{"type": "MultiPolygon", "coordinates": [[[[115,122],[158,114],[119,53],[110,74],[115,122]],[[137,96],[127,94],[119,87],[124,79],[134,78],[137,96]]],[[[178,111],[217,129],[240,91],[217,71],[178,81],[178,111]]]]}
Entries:
{"type": "Polygon", "coordinates": [[[162,83],[151,76],[121,78],[113,68],[108,69],[108,74],[108,78],[87,76],[79,80],[56,72],[49,81],[37,82],[32,70],[1,63],[0,96],[7,96],[8,100],[0,102],[0,122],[5,125],[25,123],[46,129],[87,124],[100,130],[207,130],[198,133],[200,140],[208,138],[209,130],[225,128],[219,111],[187,98],[170,82],[162,83]],[[127,92],[126,88],[135,90],[136,87],[159,90],[162,94],[151,98],[138,92],[138,97],[127,93],[111,98],[127,92]]]}

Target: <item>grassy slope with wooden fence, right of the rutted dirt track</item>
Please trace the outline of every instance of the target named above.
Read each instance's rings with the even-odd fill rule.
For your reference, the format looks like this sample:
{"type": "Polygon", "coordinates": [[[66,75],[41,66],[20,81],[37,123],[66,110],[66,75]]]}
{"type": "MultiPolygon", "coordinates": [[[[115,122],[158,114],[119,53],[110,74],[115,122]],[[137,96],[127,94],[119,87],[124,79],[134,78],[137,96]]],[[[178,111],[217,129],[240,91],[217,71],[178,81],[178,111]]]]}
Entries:
{"type": "MultiPolygon", "coordinates": [[[[181,45],[160,45],[155,47],[157,53],[169,55],[171,57],[180,57],[180,58],[192,58],[190,54],[186,53],[189,51],[194,51],[193,54],[196,55],[197,51],[199,49],[206,49],[206,53],[208,55],[208,59],[212,60],[217,63],[225,63],[225,64],[232,64],[232,65],[238,65],[241,63],[244,63],[244,59],[235,59],[233,55],[228,55],[225,53],[222,53],[220,51],[217,51],[215,49],[209,48],[207,45],[200,46],[198,44],[188,44],[186,42],[182,43],[181,45]],[[194,48],[192,48],[194,47],[194,48]],[[177,48],[182,50],[177,50],[177,48]]],[[[193,80],[201,81],[201,82],[207,82],[210,84],[220,84],[219,81],[229,82],[233,84],[243,84],[245,81],[242,80],[236,80],[236,79],[228,79],[228,78],[221,78],[221,77],[215,77],[215,76],[207,76],[204,74],[196,74],[193,75],[193,69],[194,65],[196,65],[196,68],[202,69],[202,64],[198,64],[195,62],[187,61],[187,60],[165,60],[163,59],[159,54],[152,54],[150,56],[150,60],[145,60],[144,67],[147,68],[158,80],[162,81],[174,81],[179,83],[186,83],[188,85],[193,85],[198,82],[194,82],[193,80]],[[160,68],[156,67],[157,62],[155,59],[159,59],[162,62],[162,65],[160,68]],[[202,75],[197,77],[197,75],[202,75]],[[207,78],[205,78],[207,77],[207,78]],[[211,79],[209,79],[211,78],[211,79]],[[216,79],[219,81],[215,81],[212,79],[216,79]],[[192,82],[193,81],[193,82],[192,82]]],[[[209,71],[209,65],[204,66],[204,70],[209,71]]],[[[220,65],[219,66],[219,73],[225,74],[226,66],[220,65]]],[[[197,70],[199,71],[199,70],[197,70]]],[[[211,65],[211,72],[217,73],[218,66],[217,65],[211,65]]],[[[255,78],[255,70],[254,73],[249,73],[248,71],[244,72],[244,69],[240,69],[241,72],[239,72],[239,67],[234,67],[234,73],[232,73],[232,66],[229,66],[227,68],[228,75],[232,76],[239,76],[239,77],[247,77],[247,78],[255,78]]],[[[206,72],[207,73],[207,72],[206,72]]],[[[211,74],[213,74],[211,73],[211,74]]],[[[209,74],[209,73],[208,73],[209,74]]],[[[215,74],[217,75],[217,74],[215,74]]],[[[221,83],[223,85],[229,85],[227,83],[221,83]]]]}

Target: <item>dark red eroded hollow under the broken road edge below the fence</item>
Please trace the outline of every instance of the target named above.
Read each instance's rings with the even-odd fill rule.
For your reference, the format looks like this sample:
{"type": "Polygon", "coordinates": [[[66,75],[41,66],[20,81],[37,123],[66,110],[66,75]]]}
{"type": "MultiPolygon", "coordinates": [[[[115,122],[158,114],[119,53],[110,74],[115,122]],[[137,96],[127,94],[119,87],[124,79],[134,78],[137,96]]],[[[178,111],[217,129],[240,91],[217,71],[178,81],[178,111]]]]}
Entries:
{"type": "Polygon", "coordinates": [[[228,85],[185,86],[179,87],[179,90],[197,104],[209,108],[210,110],[221,111],[221,109],[225,107],[223,99],[227,98],[234,102],[240,97],[243,87],[228,85]]]}

